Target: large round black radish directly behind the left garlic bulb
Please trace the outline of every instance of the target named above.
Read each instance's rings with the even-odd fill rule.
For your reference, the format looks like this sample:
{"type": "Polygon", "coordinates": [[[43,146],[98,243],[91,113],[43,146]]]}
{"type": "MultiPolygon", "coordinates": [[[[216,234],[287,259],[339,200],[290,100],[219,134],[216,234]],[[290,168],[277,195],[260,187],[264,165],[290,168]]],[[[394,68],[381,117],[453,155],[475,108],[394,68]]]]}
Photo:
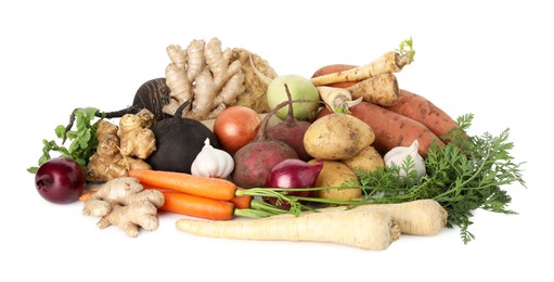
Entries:
{"type": "Polygon", "coordinates": [[[189,105],[184,102],[171,118],[156,121],[152,131],[156,136],[156,151],[146,159],[153,169],[191,174],[196,155],[209,139],[211,146],[220,149],[219,142],[207,126],[198,120],[184,118],[182,111],[189,105]]]}

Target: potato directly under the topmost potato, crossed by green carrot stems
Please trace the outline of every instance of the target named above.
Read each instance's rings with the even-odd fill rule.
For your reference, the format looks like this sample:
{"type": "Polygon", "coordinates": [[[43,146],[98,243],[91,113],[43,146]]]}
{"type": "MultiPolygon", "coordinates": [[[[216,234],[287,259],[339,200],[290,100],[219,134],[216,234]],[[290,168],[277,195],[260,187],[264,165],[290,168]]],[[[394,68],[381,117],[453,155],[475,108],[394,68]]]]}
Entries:
{"type": "MultiPolygon", "coordinates": [[[[317,164],[317,161],[312,159],[308,164],[317,164]]],[[[353,183],[359,185],[357,175],[345,164],[338,161],[323,161],[323,167],[315,179],[314,187],[337,187],[337,189],[323,189],[315,191],[317,197],[322,198],[339,198],[339,200],[352,200],[358,198],[362,194],[361,189],[343,188],[345,183],[353,183]],[[348,181],[348,182],[347,182],[348,181]]]]}

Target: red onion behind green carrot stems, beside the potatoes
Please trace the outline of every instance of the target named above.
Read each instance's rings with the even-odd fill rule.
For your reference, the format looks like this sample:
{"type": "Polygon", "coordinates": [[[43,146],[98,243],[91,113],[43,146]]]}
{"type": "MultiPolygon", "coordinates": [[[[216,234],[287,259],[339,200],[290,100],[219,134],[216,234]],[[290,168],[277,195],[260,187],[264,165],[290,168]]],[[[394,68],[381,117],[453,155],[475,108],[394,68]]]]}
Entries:
{"type": "MultiPolygon", "coordinates": [[[[323,162],[318,159],[318,164],[310,165],[301,159],[287,158],[273,166],[266,179],[266,188],[311,188],[323,168],[323,162]]],[[[313,191],[287,192],[287,195],[309,197],[313,191]]],[[[286,201],[276,203],[276,197],[266,196],[262,200],[281,209],[291,209],[291,204],[286,201]]]]}

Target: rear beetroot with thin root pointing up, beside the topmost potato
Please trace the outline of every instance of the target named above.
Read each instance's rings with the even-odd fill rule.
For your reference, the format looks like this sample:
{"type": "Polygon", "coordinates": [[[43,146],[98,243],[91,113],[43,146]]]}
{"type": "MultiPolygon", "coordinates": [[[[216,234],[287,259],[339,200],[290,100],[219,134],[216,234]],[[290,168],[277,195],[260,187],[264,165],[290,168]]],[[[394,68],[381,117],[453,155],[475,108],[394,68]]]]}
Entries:
{"type": "MultiPolygon", "coordinates": [[[[292,101],[291,91],[285,85],[285,92],[288,101],[292,101]]],[[[300,159],[310,161],[312,157],[306,152],[304,148],[304,133],[308,130],[311,123],[307,120],[298,120],[294,117],[293,103],[288,103],[288,114],[282,123],[268,129],[267,134],[269,139],[280,140],[292,146],[300,159]]]]}

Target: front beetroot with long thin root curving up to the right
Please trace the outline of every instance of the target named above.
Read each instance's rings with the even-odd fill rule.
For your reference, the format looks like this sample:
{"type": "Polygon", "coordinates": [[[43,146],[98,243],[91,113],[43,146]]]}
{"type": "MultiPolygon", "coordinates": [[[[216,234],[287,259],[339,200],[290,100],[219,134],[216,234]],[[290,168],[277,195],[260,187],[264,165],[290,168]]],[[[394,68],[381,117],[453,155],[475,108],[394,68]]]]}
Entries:
{"type": "Polygon", "coordinates": [[[298,153],[283,141],[268,138],[266,127],[279,110],[289,103],[313,102],[311,100],[285,101],[271,110],[261,121],[254,141],[241,148],[233,156],[235,168],[233,181],[243,188],[263,187],[269,171],[273,166],[287,158],[298,159],[298,153]]]}

